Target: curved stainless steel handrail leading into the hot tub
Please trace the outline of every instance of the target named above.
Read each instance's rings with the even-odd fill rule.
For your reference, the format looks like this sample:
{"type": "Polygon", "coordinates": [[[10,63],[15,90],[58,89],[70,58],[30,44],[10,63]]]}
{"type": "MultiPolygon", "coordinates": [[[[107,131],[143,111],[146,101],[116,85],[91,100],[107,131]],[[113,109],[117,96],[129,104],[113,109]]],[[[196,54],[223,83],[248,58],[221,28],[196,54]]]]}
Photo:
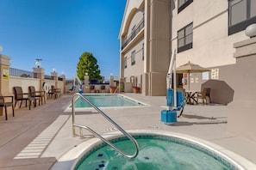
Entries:
{"type": "Polygon", "coordinates": [[[139,144],[137,143],[137,141],[134,139],[134,137],[132,137],[130,134],[128,134],[128,132],[124,131],[122,129],[122,127],[118,124],[116,124],[116,122],[114,122],[114,120],[112,120],[111,118],[109,118],[109,116],[104,113],[102,110],[100,110],[97,106],[95,106],[93,103],[91,103],[91,100],[88,100],[86,97],[84,97],[84,95],[76,93],[73,94],[72,96],[72,132],[73,132],[73,136],[76,136],[76,127],[79,128],[80,130],[80,137],[82,137],[82,129],[85,129],[87,131],[90,131],[95,137],[98,137],[99,139],[101,139],[104,143],[109,144],[110,147],[112,147],[113,149],[116,149],[117,152],[119,152],[120,154],[122,154],[123,156],[127,157],[127,158],[134,158],[139,154],[139,144]],[[125,135],[126,137],[128,137],[128,139],[130,139],[135,146],[135,153],[134,155],[128,155],[126,153],[124,153],[121,149],[118,149],[113,143],[111,143],[108,139],[102,137],[101,135],[99,135],[96,131],[93,131],[90,127],[88,126],[84,126],[81,124],[76,124],[75,123],[75,108],[74,108],[74,103],[75,103],[75,97],[79,96],[81,97],[84,101],[86,101],[89,105],[91,105],[93,108],[95,108],[95,110],[97,110],[97,112],[101,113],[103,115],[104,118],[106,118],[107,120],[109,120],[109,122],[111,124],[114,124],[116,126],[116,128],[122,132],[123,135],[125,135]]]}

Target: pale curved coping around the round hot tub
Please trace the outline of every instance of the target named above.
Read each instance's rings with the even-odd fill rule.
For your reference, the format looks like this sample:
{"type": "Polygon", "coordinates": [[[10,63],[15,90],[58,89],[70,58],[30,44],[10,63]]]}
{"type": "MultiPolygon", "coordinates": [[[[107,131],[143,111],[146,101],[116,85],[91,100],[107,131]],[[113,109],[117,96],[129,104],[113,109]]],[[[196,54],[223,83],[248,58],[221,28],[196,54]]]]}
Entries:
{"type": "MultiPolygon", "coordinates": [[[[246,158],[240,155],[237,155],[234,152],[228,149],[225,149],[220,145],[217,145],[215,143],[210,143],[209,141],[206,141],[199,137],[192,137],[182,133],[170,132],[170,131],[159,131],[159,130],[132,130],[132,131],[128,131],[128,133],[134,136],[148,134],[148,135],[163,135],[163,136],[169,136],[169,137],[178,137],[190,143],[196,143],[198,145],[201,145],[204,148],[209,149],[209,151],[213,151],[216,154],[221,155],[224,159],[234,164],[235,167],[238,167],[240,170],[246,170],[246,169],[251,170],[251,169],[255,169],[256,167],[256,165],[253,162],[248,161],[246,158]]],[[[106,137],[107,139],[111,140],[116,137],[123,137],[123,135],[119,131],[113,131],[109,133],[104,133],[103,137],[106,137]]],[[[53,169],[54,170],[73,169],[78,163],[78,161],[81,159],[81,157],[84,155],[84,153],[90,151],[92,148],[94,148],[100,143],[102,143],[102,141],[94,137],[89,139],[88,141],[78,144],[78,146],[76,146],[74,149],[71,149],[68,152],[66,152],[65,155],[62,155],[57,160],[57,162],[53,165],[53,169]]]]}

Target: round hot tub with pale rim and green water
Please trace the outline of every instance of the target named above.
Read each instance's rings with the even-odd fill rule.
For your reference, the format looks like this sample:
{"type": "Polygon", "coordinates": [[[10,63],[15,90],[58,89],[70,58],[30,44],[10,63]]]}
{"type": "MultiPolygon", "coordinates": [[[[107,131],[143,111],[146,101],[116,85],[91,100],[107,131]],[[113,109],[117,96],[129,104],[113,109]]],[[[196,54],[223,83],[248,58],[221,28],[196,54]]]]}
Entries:
{"type": "MultiPolygon", "coordinates": [[[[240,155],[236,155],[228,149],[224,149],[221,146],[209,143],[203,139],[197,137],[190,137],[184,134],[169,132],[169,131],[152,131],[152,130],[136,130],[128,131],[133,137],[138,138],[140,145],[139,155],[128,160],[123,156],[108,148],[105,148],[105,144],[99,139],[93,138],[89,141],[81,143],[76,149],[70,150],[66,155],[58,160],[56,168],[61,167],[61,162],[66,163],[68,160],[72,160],[69,164],[65,164],[63,169],[79,169],[79,165],[83,164],[85,160],[86,169],[166,169],[165,167],[159,167],[161,165],[168,165],[167,169],[172,169],[169,166],[180,167],[181,169],[254,169],[255,165],[251,161],[247,161],[240,155]],[[145,138],[146,137],[146,138],[145,138]],[[142,142],[140,142],[142,140],[142,142]],[[157,140],[157,143],[155,143],[157,140]],[[153,144],[152,144],[153,143],[153,144]],[[172,143],[169,145],[169,143],[172,143]],[[179,146],[184,147],[182,149],[179,146]],[[187,156],[187,157],[184,157],[187,156]],[[88,162],[86,159],[92,156],[88,162]],[[113,157],[114,156],[114,157],[113,157]],[[150,163],[153,161],[153,163],[150,163]],[[178,164],[170,165],[168,162],[178,161],[178,164]],[[196,161],[196,165],[192,165],[191,161],[196,161]],[[213,162],[220,167],[209,168],[213,162]],[[239,163],[238,163],[239,162],[239,163]],[[204,165],[202,165],[204,163],[204,165]],[[150,166],[153,166],[151,168],[150,166]],[[89,168],[89,166],[92,166],[89,168]],[[136,166],[133,167],[133,166],[136,166]],[[199,166],[199,167],[198,167],[199,166]],[[201,167],[200,167],[201,166],[201,167]],[[203,166],[203,168],[202,168],[203,166]],[[95,168],[96,167],[96,168],[95,168]],[[122,167],[122,168],[120,168],[122,167]],[[127,167],[127,168],[124,168],[127,167]],[[194,167],[194,168],[193,168],[194,167]]],[[[123,137],[118,132],[112,132],[104,137],[112,140],[114,143],[122,142],[123,137]]],[[[121,145],[122,145],[121,143],[121,145]]],[[[119,144],[118,144],[119,145],[119,144]]],[[[126,145],[126,144],[125,144],[126,145]]],[[[121,146],[122,147],[122,146],[121,146]]],[[[134,152],[132,147],[128,146],[127,150],[134,152]]],[[[54,167],[55,167],[54,166],[54,167]]],[[[60,168],[59,168],[60,169],[60,168]]],[[[175,168],[173,168],[175,169],[175,168]]],[[[177,168],[178,169],[178,168],[177,168]]]]}

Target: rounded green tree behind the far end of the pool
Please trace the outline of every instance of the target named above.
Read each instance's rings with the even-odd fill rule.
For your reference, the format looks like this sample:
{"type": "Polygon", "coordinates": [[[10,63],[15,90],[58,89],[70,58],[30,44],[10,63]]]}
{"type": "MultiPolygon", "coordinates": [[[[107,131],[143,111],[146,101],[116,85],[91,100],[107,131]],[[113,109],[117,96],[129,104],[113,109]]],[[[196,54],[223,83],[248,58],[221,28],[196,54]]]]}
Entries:
{"type": "Polygon", "coordinates": [[[97,58],[93,57],[93,54],[90,52],[84,52],[78,62],[77,66],[77,74],[78,78],[80,80],[84,80],[84,74],[88,73],[89,77],[97,78],[101,80],[101,70],[99,70],[98,64],[97,64],[97,58]]]}

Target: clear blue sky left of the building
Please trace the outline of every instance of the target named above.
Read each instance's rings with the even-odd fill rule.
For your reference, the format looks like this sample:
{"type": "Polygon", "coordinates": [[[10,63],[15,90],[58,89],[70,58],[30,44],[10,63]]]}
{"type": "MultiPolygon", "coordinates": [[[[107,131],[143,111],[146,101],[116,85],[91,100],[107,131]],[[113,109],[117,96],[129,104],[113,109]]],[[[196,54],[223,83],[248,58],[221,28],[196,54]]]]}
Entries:
{"type": "Polygon", "coordinates": [[[32,71],[36,58],[50,75],[76,75],[91,52],[101,74],[119,76],[119,31],[126,0],[0,0],[0,46],[10,67],[32,71]]]}

